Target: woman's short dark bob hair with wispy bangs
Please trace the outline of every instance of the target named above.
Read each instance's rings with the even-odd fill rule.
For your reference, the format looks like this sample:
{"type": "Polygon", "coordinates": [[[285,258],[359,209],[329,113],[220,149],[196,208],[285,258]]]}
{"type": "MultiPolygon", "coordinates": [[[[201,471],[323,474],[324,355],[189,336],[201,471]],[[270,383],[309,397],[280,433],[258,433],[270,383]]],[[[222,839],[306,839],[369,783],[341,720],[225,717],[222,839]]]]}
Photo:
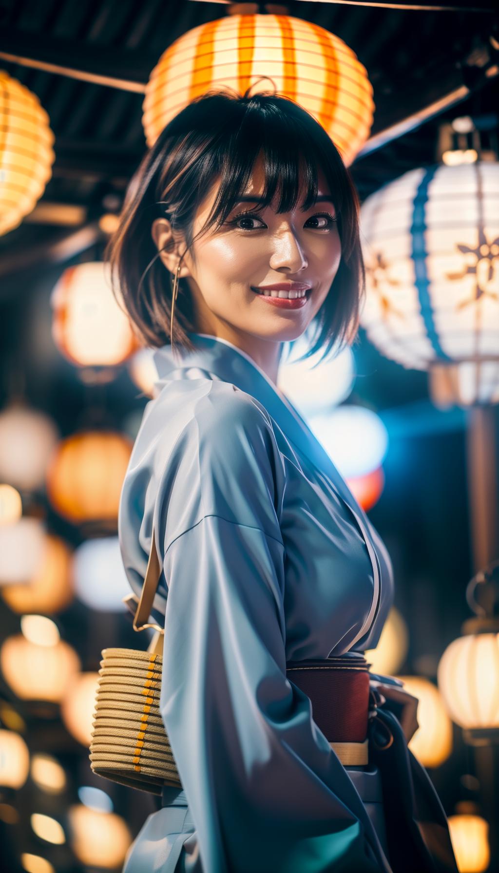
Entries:
{"type": "MultiPolygon", "coordinates": [[[[144,155],[125,197],[118,229],[107,244],[114,294],[146,346],[170,343],[172,280],[151,237],[156,217],[168,217],[173,232],[191,246],[194,217],[206,192],[219,179],[218,196],[198,236],[225,223],[251,180],[260,152],[265,189],[256,209],[279,195],[278,212],[294,210],[301,190],[302,208],[317,196],[317,166],[322,168],[336,207],[342,257],[328,296],[308,334],[308,352],[323,349],[322,360],[353,344],[365,293],[364,260],[359,241],[357,191],[329,135],[305,109],[273,93],[249,96],[211,89],[178,113],[144,155]]],[[[181,251],[184,255],[184,251],[181,251]]],[[[309,330],[310,328],[308,328],[309,330]]],[[[196,332],[187,280],[178,283],[173,341],[193,350],[187,333],[196,332]]],[[[301,360],[303,360],[303,358],[301,360]]]]}

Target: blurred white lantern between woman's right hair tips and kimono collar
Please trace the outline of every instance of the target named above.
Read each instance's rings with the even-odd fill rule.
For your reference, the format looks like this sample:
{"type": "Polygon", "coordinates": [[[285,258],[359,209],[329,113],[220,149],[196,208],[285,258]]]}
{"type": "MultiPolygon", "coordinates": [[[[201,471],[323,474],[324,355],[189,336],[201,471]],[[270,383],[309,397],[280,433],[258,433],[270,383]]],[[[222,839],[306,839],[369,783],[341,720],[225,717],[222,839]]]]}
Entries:
{"type": "Polygon", "coordinates": [[[277,387],[303,416],[314,416],[334,409],[350,395],[355,361],[350,347],[322,362],[317,352],[299,361],[308,348],[304,335],[293,342],[289,356],[284,359],[283,355],[277,387]]]}

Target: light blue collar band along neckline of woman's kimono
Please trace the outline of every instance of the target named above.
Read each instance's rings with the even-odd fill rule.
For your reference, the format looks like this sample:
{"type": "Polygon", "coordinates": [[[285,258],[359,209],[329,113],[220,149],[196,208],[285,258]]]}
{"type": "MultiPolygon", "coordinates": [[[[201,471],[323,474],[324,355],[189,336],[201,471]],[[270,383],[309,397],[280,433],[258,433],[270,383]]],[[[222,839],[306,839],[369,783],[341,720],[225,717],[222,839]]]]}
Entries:
{"type": "Polygon", "coordinates": [[[183,370],[199,368],[207,373],[217,375],[224,382],[232,382],[246,394],[252,395],[267,409],[269,416],[279,425],[289,442],[294,443],[300,452],[332,481],[339,496],[343,499],[343,503],[347,505],[356,519],[371,558],[374,574],[374,596],[364,626],[351,643],[353,646],[371,629],[379,601],[380,568],[378,555],[372,544],[369,522],[364,510],[357,504],[327,451],[308,428],[299,412],[288,399],[277,391],[274,383],[253,361],[253,358],[232,345],[228,340],[221,340],[208,333],[189,333],[188,335],[197,347],[194,352],[181,350],[178,353],[176,351],[174,355],[170,346],[164,346],[153,355],[159,380],[182,378],[183,370]]]}

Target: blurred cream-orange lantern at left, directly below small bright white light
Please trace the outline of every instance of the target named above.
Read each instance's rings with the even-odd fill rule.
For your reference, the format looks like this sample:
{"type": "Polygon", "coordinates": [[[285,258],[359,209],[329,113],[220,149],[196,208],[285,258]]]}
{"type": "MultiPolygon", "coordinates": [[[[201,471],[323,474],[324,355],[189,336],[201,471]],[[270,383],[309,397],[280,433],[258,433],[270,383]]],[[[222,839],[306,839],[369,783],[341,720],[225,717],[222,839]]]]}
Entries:
{"type": "Polygon", "coordinates": [[[3,641],[0,667],[18,698],[59,703],[80,671],[80,658],[62,640],[53,646],[40,646],[17,634],[3,641]]]}

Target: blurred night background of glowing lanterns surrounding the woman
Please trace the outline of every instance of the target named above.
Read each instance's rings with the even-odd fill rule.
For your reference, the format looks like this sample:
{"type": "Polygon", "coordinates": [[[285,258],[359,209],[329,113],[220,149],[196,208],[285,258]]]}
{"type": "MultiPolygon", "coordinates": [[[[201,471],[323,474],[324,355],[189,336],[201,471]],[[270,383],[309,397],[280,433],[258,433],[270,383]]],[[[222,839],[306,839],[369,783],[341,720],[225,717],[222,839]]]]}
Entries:
{"type": "Polygon", "coordinates": [[[295,342],[280,388],[392,557],[367,657],[419,698],[460,870],[499,870],[493,3],[1,0],[0,25],[2,869],[121,870],[160,807],[89,760],[101,650],[150,641],[117,508],[156,372],[103,251],[170,118],[268,75],[342,152],[367,269],[357,343],[315,366],[295,342]]]}

